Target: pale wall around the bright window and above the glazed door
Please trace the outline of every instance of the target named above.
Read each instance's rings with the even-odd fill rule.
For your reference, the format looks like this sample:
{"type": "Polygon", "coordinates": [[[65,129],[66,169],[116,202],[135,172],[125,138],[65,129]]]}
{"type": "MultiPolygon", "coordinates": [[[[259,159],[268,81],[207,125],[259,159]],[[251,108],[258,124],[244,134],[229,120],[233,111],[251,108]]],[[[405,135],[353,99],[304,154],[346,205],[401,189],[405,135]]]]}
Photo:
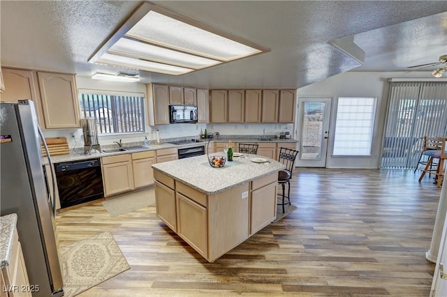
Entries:
{"type": "Polygon", "coordinates": [[[432,78],[430,72],[413,73],[373,73],[373,72],[348,72],[324,79],[316,84],[311,84],[298,89],[297,96],[300,97],[333,97],[332,118],[330,121],[330,133],[328,142],[328,168],[379,168],[381,155],[381,142],[385,123],[386,108],[388,102],[388,82],[389,78],[432,78]],[[374,135],[372,139],[372,152],[365,157],[340,157],[332,156],[333,139],[335,133],[335,112],[337,110],[338,97],[377,97],[377,114],[374,125],[374,135]]]}

